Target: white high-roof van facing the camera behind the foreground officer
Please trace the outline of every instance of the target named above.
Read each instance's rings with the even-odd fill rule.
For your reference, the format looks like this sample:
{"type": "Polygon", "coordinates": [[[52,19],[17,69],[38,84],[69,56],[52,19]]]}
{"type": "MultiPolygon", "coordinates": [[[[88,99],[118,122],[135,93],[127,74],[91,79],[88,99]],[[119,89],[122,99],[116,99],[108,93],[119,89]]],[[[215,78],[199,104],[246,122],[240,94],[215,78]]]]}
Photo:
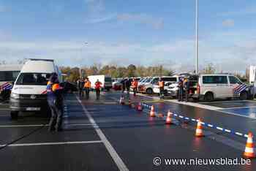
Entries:
{"type": "Polygon", "coordinates": [[[61,72],[50,59],[28,59],[23,65],[10,96],[11,118],[20,111],[48,110],[46,86],[51,73],[56,72],[60,83],[61,72]]]}

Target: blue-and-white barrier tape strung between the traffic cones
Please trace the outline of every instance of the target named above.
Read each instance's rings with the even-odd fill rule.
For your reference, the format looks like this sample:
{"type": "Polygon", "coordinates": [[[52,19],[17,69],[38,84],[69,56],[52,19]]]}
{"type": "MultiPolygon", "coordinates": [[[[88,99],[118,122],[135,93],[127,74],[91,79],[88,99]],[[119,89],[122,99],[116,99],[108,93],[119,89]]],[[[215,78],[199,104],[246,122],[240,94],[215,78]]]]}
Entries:
{"type": "MultiPolygon", "coordinates": [[[[148,105],[148,104],[145,104],[145,103],[142,103],[142,105],[144,107],[148,107],[148,108],[151,108],[151,105],[148,105]]],[[[195,121],[195,122],[198,122],[199,120],[198,119],[195,119],[195,118],[188,118],[188,117],[185,117],[183,115],[178,115],[176,113],[173,113],[173,116],[175,116],[176,118],[181,118],[181,119],[184,119],[184,120],[187,120],[187,121],[195,121]]],[[[201,124],[204,125],[204,126],[207,126],[211,129],[218,129],[219,131],[222,131],[222,132],[226,132],[226,133],[229,133],[229,134],[235,134],[235,135],[238,135],[240,137],[248,137],[248,134],[243,134],[241,132],[236,132],[236,131],[233,131],[233,130],[230,130],[230,129],[224,129],[222,127],[219,127],[219,126],[214,126],[213,124],[211,123],[205,123],[205,122],[202,122],[201,121],[201,124]]]]}

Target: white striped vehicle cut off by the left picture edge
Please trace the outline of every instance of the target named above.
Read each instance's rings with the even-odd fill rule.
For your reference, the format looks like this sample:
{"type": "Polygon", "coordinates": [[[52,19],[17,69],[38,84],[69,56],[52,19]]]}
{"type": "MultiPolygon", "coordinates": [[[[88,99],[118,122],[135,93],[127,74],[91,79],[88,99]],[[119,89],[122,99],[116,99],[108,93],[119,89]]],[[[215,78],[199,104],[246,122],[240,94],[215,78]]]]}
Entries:
{"type": "Polygon", "coordinates": [[[21,68],[21,64],[0,65],[0,96],[2,100],[10,98],[13,83],[21,68]]]}

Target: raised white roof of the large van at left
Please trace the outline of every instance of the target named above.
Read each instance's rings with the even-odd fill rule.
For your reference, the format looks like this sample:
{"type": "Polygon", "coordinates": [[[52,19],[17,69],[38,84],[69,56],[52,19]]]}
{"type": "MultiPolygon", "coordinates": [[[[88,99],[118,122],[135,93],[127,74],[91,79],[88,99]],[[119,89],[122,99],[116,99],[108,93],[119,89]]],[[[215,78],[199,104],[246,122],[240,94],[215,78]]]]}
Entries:
{"type": "Polygon", "coordinates": [[[56,68],[53,61],[26,61],[21,72],[52,73],[56,68]]]}

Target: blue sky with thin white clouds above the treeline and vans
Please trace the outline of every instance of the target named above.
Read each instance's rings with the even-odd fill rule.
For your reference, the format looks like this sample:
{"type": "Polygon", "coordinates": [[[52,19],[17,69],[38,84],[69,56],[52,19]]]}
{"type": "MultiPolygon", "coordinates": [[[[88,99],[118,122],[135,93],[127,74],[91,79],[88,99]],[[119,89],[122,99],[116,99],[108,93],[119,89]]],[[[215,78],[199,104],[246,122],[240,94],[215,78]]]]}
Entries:
{"type": "MultiPolygon", "coordinates": [[[[199,0],[200,67],[256,64],[256,1],[199,0]]],[[[192,70],[195,0],[0,0],[0,59],[192,70]],[[88,42],[88,44],[85,44],[88,42]]]]}

